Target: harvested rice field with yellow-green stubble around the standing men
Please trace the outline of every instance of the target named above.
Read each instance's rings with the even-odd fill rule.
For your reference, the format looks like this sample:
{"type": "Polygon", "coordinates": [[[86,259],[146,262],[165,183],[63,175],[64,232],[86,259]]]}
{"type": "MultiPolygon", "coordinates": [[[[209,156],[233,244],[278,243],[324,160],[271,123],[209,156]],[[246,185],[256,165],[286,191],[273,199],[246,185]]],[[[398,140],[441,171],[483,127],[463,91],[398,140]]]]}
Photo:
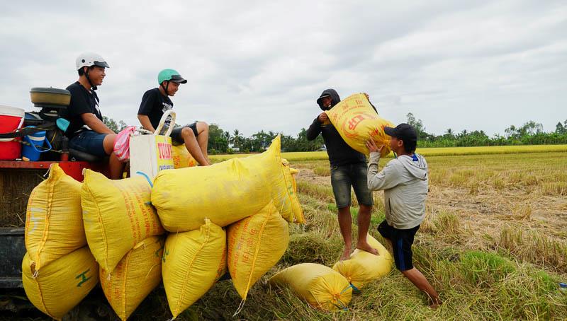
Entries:
{"type": "MultiPolygon", "coordinates": [[[[313,310],[290,291],[262,283],[301,262],[332,266],[342,249],[326,153],[286,153],[300,170],[298,194],[307,223],[292,227],[286,254],[252,288],[237,317],[237,294],[230,283],[219,282],[181,320],[565,320],[567,293],[558,282],[567,281],[566,151],[422,148],[430,193],[416,235],[415,266],[444,304],[427,308],[425,295],[394,270],[339,313],[313,310]]],[[[375,230],[383,219],[382,195],[374,192],[371,234],[384,242],[375,230]]]]}

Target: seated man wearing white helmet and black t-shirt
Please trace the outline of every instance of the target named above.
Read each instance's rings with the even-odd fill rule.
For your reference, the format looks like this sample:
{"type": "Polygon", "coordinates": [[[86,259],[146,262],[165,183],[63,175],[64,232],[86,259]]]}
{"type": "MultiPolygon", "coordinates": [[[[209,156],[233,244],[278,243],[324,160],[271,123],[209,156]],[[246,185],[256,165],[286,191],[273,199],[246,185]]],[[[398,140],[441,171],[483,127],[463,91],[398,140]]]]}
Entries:
{"type": "Polygon", "coordinates": [[[69,147],[105,158],[110,156],[111,178],[122,177],[124,164],[113,153],[116,133],[102,121],[99,109],[99,96],[96,87],[101,86],[105,69],[110,68],[99,54],[86,52],[77,57],[75,64],[79,80],[67,87],[71,93],[68,107],[69,127],[65,134],[69,137],[69,147]]]}

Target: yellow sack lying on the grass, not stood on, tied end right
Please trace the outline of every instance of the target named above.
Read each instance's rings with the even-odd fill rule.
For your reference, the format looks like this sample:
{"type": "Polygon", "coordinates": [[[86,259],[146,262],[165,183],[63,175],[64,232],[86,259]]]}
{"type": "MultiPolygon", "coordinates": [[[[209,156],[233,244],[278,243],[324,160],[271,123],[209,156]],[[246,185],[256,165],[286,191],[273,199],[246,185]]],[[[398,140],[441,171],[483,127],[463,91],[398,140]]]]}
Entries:
{"type": "Polygon", "coordinates": [[[347,308],[352,297],[349,281],[334,269],[321,264],[293,265],[272,276],[269,283],[289,286],[300,298],[322,310],[347,308]]]}

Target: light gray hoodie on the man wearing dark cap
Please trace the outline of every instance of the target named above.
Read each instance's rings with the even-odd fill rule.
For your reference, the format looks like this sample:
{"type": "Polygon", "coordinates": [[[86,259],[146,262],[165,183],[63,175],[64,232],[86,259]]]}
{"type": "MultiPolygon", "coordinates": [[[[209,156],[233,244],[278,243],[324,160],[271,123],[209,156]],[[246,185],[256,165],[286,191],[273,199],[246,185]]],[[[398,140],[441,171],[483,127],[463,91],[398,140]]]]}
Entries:
{"type": "Polygon", "coordinates": [[[370,153],[368,188],[384,191],[384,209],[389,226],[414,228],[425,218],[427,162],[423,156],[403,155],[389,161],[378,173],[380,153],[370,153]]]}

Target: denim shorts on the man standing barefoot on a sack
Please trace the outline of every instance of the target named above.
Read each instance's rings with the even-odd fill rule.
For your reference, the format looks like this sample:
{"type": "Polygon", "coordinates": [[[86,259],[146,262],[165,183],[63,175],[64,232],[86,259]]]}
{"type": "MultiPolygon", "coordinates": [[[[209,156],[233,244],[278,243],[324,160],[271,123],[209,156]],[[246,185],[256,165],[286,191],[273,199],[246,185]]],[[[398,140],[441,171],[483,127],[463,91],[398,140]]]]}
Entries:
{"type": "Polygon", "coordinates": [[[350,190],[354,189],[359,204],[372,206],[372,194],[366,179],[368,170],[366,163],[331,166],[332,192],[335,194],[337,208],[350,206],[350,190]]]}

